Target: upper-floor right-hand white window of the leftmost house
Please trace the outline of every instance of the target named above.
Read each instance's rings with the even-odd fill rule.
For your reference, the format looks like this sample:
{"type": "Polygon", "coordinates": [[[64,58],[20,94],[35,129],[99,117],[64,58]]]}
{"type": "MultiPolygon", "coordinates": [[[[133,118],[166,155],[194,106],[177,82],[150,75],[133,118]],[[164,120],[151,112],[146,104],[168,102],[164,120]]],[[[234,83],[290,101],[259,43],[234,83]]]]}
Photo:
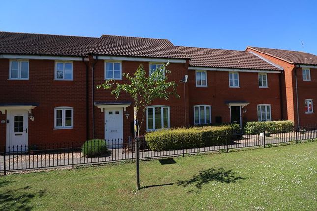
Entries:
{"type": "Polygon", "coordinates": [[[54,75],[55,80],[73,80],[73,62],[56,61],[54,75]]]}

